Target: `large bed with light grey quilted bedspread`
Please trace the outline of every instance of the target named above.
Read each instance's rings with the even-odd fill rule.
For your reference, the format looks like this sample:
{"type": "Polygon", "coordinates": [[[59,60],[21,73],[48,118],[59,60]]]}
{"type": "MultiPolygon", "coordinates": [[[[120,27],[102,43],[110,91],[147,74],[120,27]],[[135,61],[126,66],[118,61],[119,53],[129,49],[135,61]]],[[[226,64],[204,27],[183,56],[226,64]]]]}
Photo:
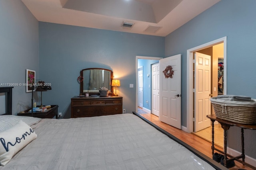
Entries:
{"type": "MultiPolygon", "coordinates": [[[[0,115],[0,138],[10,129],[16,136],[24,134],[23,128],[16,126],[21,122],[30,129],[31,135],[25,139],[32,134],[34,137],[0,170],[226,169],[193,148],[181,145],[167,132],[160,132],[159,127],[150,125],[135,112],[70,119],[0,115]]],[[[19,139],[20,143],[25,140],[19,139]]],[[[0,141],[3,145],[3,140],[0,141]]]]}

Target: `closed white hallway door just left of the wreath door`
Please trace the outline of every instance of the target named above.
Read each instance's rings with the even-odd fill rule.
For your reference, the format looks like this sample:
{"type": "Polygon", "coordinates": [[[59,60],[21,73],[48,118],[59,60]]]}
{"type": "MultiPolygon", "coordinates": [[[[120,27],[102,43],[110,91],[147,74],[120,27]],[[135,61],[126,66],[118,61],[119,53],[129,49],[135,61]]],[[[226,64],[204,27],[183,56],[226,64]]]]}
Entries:
{"type": "Polygon", "coordinates": [[[152,113],[159,116],[159,63],[152,64],[151,66],[152,75],[152,113]]]}

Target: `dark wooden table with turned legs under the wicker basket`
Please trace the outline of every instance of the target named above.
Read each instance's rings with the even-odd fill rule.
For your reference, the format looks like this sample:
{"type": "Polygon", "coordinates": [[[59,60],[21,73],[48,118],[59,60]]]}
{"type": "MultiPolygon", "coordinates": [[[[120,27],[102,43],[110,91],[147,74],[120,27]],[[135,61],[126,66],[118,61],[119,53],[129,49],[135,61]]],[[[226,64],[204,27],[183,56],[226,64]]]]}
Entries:
{"type": "Polygon", "coordinates": [[[220,119],[218,117],[216,117],[216,115],[207,115],[206,117],[208,117],[209,119],[211,119],[212,121],[212,155],[214,154],[214,150],[217,150],[218,152],[224,154],[224,165],[226,166],[228,161],[232,161],[232,160],[236,160],[240,163],[242,163],[243,165],[246,165],[252,169],[256,169],[256,167],[244,162],[244,158],[245,158],[245,154],[244,154],[244,129],[251,129],[251,130],[256,130],[256,125],[246,125],[246,124],[240,124],[240,123],[234,123],[231,121],[226,121],[223,119],[220,119]],[[222,129],[224,129],[224,152],[222,150],[216,149],[214,147],[214,121],[218,121],[222,127],[222,129]],[[242,143],[242,154],[239,156],[231,156],[229,154],[227,154],[227,130],[231,127],[231,126],[237,126],[241,128],[241,143],[242,143]],[[227,158],[230,157],[229,159],[227,158]],[[240,160],[242,158],[242,160],[240,160]]]}

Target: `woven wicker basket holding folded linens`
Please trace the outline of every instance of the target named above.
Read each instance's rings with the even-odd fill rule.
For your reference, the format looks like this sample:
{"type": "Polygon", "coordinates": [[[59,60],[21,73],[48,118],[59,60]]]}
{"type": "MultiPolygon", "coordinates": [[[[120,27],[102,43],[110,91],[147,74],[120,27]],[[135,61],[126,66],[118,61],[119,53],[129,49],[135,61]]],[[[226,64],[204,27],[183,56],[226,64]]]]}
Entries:
{"type": "Polygon", "coordinates": [[[254,102],[218,100],[216,97],[210,98],[216,117],[241,124],[256,123],[256,100],[252,100],[254,102]]]}

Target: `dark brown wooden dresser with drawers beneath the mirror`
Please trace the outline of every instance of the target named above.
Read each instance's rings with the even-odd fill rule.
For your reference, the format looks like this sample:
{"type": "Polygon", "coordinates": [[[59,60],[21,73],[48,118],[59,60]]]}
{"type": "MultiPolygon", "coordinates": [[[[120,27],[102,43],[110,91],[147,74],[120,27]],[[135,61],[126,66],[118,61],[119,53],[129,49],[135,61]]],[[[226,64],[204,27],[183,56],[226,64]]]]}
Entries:
{"type": "Polygon", "coordinates": [[[89,96],[71,98],[71,117],[92,117],[122,114],[123,97],[89,96]]]}

